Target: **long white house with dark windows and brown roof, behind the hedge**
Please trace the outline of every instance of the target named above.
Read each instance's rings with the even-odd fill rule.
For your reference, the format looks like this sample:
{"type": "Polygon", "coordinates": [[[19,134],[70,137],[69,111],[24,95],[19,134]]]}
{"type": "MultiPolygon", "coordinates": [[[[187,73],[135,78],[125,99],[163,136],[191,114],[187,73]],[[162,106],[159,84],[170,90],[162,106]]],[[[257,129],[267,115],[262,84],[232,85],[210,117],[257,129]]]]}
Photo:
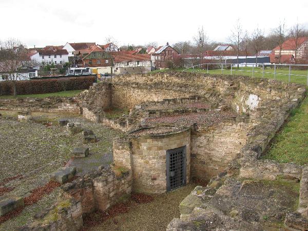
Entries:
{"type": "Polygon", "coordinates": [[[51,64],[53,62],[54,64],[64,64],[68,62],[68,52],[65,49],[39,50],[30,55],[30,59],[38,63],[45,62],[51,64]]]}

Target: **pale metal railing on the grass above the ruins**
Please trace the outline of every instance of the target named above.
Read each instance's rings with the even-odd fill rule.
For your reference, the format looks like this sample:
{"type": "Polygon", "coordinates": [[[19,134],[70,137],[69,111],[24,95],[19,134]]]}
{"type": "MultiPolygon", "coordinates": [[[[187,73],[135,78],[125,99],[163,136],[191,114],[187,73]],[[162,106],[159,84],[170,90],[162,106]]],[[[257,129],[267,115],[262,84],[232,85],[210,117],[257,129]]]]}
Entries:
{"type": "Polygon", "coordinates": [[[279,75],[288,76],[288,80],[287,81],[289,83],[291,82],[291,76],[304,77],[306,79],[306,81],[305,81],[306,85],[308,86],[308,65],[305,65],[305,64],[204,63],[204,64],[198,64],[198,65],[194,65],[194,66],[188,67],[188,68],[184,69],[183,71],[187,71],[190,68],[195,70],[195,68],[198,68],[198,67],[199,67],[200,70],[197,69],[196,71],[201,71],[201,70],[205,71],[206,70],[206,73],[209,73],[211,70],[221,70],[222,74],[224,74],[224,71],[227,70],[227,71],[230,71],[229,74],[231,74],[231,75],[234,72],[251,72],[252,73],[252,77],[255,77],[256,73],[262,73],[262,76],[258,76],[258,77],[264,78],[264,76],[266,74],[267,78],[271,78],[271,75],[272,75],[275,80],[277,79],[277,76],[279,76],[279,75]],[[214,68],[211,65],[215,65],[214,68]],[[247,67],[248,68],[251,67],[251,69],[248,69],[247,67]],[[268,70],[267,67],[271,67],[271,69],[274,69],[274,70],[273,71],[267,71],[268,70]],[[304,73],[306,71],[307,73],[306,74],[302,74],[302,73],[295,74],[295,73],[292,73],[292,70],[296,69],[295,67],[302,67],[302,68],[304,68],[306,70],[296,70],[296,71],[302,72],[302,73],[304,73]],[[281,72],[281,70],[282,70],[281,68],[284,68],[284,69],[287,68],[287,73],[281,72]]]}

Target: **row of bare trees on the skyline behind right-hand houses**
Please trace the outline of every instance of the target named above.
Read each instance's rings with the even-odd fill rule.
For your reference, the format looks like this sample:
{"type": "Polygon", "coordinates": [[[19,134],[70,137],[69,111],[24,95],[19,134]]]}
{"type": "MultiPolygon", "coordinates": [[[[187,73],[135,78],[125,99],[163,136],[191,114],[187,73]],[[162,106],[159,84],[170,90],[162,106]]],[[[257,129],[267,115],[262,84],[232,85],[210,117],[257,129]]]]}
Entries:
{"type": "MultiPolygon", "coordinates": [[[[176,50],[182,54],[203,54],[206,50],[213,50],[215,47],[221,44],[230,44],[235,49],[235,55],[237,57],[240,53],[245,56],[254,55],[261,50],[273,50],[275,47],[279,47],[278,62],[281,60],[282,45],[288,38],[293,38],[295,41],[296,52],[295,60],[297,61],[298,51],[300,46],[299,38],[302,36],[308,36],[308,30],[304,29],[303,25],[296,23],[290,28],[286,27],[285,21],[280,21],[277,27],[270,30],[265,35],[264,30],[257,27],[255,30],[248,32],[241,24],[240,18],[235,22],[235,25],[230,30],[230,34],[227,37],[226,42],[210,41],[204,28],[198,29],[196,36],[192,37],[192,41],[181,41],[172,45],[176,50]]],[[[122,46],[123,50],[134,50],[137,48],[145,48],[148,46],[157,47],[157,43],[148,43],[146,45],[128,45],[122,46]]],[[[201,56],[202,57],[202,56],[201,56]]]]}

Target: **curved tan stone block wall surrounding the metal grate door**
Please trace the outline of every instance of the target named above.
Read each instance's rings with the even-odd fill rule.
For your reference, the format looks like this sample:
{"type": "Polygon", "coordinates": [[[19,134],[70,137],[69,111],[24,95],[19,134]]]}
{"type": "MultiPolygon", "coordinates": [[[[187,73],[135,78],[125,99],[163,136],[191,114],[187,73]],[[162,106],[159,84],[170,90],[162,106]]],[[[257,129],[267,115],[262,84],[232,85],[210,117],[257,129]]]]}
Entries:
{"type": "Polygon", "coordinates": [[[166,150],[186,146],[186,183],[190,179],[190,129],[144,135],[113,142],[114,163],[132,169],[133,191],[161,194],[167,190],[166,150]]]}

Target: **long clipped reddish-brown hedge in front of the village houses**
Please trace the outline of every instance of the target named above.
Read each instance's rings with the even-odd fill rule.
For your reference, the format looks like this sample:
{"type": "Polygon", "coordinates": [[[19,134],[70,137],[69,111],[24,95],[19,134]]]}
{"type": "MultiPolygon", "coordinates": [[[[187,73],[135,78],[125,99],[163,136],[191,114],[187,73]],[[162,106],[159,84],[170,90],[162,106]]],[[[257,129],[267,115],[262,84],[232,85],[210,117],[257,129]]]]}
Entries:
{"type": "MultiPolygon", "coordinates": [[[[60,79],[43,79],[17,81],[17,94],[43,94],[69,90],[88,89],[96,82],[95,76],[66,77],[60,79]]],[[[0,82],[0,95],[13,95],[13,83],[0,82]]]]}

